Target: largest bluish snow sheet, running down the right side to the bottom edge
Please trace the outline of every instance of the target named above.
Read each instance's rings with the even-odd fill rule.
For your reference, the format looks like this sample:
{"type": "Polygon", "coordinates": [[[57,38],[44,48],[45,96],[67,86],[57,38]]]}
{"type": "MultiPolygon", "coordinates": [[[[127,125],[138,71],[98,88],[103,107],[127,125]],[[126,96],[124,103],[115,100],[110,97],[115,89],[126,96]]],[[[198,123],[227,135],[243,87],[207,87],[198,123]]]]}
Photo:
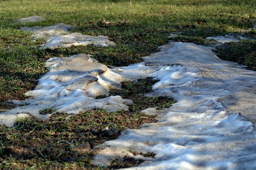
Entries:
{"type": "Polygon", "coordinates": [[[113,71],[131,80],[136,74],[156,77],[160,81],[147,95],[171,96],[178,102],[168,109],[142,111],[157,113],[159,121],[123,131],[118,139],[98,146],[102,150],[94,164],[108,165],[115,157],[136,158],[132,150],[156,155],[142,156],[145,162],[130,170],[256,168],[256,94],[246,90],[252,86],[255,90],[256,73],[192,43],[172,42],[160,50],[144,57],[143,63],[113,71]]]}

